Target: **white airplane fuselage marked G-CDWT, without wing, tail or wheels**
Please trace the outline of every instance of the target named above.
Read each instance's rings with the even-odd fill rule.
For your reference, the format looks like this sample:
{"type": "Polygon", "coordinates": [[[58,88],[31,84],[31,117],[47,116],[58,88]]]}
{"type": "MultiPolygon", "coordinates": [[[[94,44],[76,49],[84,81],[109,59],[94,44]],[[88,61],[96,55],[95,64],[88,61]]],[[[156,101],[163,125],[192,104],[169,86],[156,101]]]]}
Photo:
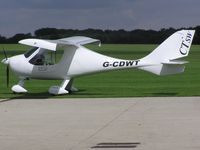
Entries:
{"type": "Polygon", "coordinates": [[[10,68],[20,77],[35,79],[67,79],[114,69],[141,66],[140,60],[122,60],[93,52],[80,46],[64,51],[59,63],[54,65],[33,65],[29,62],[38,51],[26,58],[23,54],[10,59],[10,68]]]}

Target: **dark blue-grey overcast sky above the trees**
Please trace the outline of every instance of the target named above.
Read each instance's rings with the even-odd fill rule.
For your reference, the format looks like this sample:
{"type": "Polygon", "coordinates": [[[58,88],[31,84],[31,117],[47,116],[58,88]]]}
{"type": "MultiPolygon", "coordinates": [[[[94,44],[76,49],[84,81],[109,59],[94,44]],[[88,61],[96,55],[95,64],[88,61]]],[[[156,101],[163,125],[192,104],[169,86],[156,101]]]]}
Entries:
{"type": "Polygon", "coordinates": [[[0,34],[42,27],[154,29],[200,25],[200,0],[3,0],[0,34]]]}

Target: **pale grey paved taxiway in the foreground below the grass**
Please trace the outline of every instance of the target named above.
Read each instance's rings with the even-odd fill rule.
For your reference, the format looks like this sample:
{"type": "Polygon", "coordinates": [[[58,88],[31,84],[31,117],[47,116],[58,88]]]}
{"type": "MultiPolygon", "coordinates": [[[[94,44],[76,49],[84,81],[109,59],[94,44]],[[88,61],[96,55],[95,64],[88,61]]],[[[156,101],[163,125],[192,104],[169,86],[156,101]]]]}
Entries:
{"type": "Polygon", "coordinates": [[[200,98],[0,102],[0,150],[199,150],[200,98]]]}

